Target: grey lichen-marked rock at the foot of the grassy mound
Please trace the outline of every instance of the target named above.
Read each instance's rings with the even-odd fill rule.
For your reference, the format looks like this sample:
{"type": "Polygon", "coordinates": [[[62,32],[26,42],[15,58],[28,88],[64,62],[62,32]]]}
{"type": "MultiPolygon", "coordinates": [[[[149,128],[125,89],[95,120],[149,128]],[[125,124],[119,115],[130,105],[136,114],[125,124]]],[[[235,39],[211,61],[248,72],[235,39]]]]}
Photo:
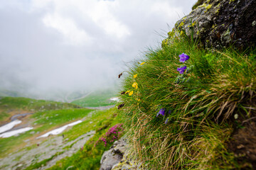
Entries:
{"type": "Polygon", "coordinates": [[[115,141],[110,150],[104,152],[100,164],[100,170],[144,170],[142,163],[134,158],[124,137],[115,141]]]}

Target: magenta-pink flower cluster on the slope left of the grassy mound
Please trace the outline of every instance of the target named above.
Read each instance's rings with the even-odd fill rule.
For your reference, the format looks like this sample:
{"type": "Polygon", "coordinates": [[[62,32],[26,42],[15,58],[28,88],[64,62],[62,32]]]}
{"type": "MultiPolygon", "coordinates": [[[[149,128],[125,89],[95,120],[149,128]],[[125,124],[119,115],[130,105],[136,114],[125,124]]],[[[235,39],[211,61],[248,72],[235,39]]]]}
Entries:
{"type": "Polygon", "coordinates": [[[106,147],[107,142],[114,142],[114,140],[118,140],[123,131],[124,129],[122,128],[122,123],[114,125],[105,133],[105,135],[97,140],[95,145],[97,145],[98,142],[104,142],[104,146],[106,147]]]}

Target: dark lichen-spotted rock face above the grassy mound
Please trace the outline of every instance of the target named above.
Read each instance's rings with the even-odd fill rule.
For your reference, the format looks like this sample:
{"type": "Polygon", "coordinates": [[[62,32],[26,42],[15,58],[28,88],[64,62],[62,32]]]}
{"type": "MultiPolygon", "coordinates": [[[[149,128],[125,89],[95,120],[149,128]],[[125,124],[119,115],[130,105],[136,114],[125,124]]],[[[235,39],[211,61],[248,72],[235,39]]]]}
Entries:
{"type": "Polygon", "coordinates": [[[208,0],[181,18],[162,46],[174,32],[201,40],[205,47],[255,47],[256,1],[208,0]]]}

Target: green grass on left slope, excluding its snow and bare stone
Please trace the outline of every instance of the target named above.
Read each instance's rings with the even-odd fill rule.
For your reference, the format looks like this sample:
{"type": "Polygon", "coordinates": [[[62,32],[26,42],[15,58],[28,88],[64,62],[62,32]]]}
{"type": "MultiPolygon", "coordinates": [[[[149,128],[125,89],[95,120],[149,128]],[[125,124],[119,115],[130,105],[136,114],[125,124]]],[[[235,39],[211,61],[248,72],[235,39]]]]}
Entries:
{"type": "MultiPolygon", "coordinates": [[[[74,125],[72,128],[59,134],[60,136],[65,134],[66,142],[75,140],[91,130],[96,131],[96,134],[87,141],[82,151],[73,154],[71,157],[61,159],[50,169],[67,169],[69,166],[74,166],[75,169],[99,169],[103,152],[109,149],[113,143],[113,141],[107,140],[107,145],[104,145],[104,142],[99,141],[99,139],[100,137],[104,137],[105,133],[111,127],[121,123],[121,117],[118,115],[116,108],[97,111],[87,108],[78,108],[78,106],[70,103],[37,101],[31,98],[13,97],[1,98],[0,102],[0,109],[6,112],[7,119],[11,117],[9,113],[13,113],[14,111],[17,111],[17,113],[21,111],[33,111],[33,115],[26,117],[26,123],[31,125],[33,130],[29,130],[18,136],[0,138],[1,158],[13,152],[30,150],[37,147],[38,140],[36,140],[36,137],[55,128],[74,122],[75,120],[80,120],[81,118],[84,118],[82,123],[74,125]],[[26,146],[26,140],[30,140],[31,145],[26,146]]],[[[120,132],[122,132],[122,130],[120,132]]],[[[120,133],[119,137],[121,137],[121,135],[120,133]]],[[[48,137],[42,138],[42,140],[42,142],[46,142],[48,137]]],[[[65,150],[63,150],[63,152],[65,152],[65,150]]],[[[61,153],[56,153],[53,157],[37,162],[36,164],[31,164],[31,166],[28,166],[26,169],[37,169],[46,165],[51,159],[61,153]]],[[[0,169],[1,168],[4,167],[0,167],[0,169]]]]}

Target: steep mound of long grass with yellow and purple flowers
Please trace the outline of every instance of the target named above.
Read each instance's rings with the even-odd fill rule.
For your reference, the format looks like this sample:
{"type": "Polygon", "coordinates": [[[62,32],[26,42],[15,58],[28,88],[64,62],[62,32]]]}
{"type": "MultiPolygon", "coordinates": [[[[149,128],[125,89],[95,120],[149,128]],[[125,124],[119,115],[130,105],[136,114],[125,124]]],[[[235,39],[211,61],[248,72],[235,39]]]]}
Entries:
{"type": "Polygon", "coordinates": [[[145,52],[119,96],[133,152],[149,169],[252,169],[232,144],[255,121],[255,59],[255,49],[203,49],[181,35],[145,52]],[[183,53],[190,58],[179,62],[183,53]]]}

